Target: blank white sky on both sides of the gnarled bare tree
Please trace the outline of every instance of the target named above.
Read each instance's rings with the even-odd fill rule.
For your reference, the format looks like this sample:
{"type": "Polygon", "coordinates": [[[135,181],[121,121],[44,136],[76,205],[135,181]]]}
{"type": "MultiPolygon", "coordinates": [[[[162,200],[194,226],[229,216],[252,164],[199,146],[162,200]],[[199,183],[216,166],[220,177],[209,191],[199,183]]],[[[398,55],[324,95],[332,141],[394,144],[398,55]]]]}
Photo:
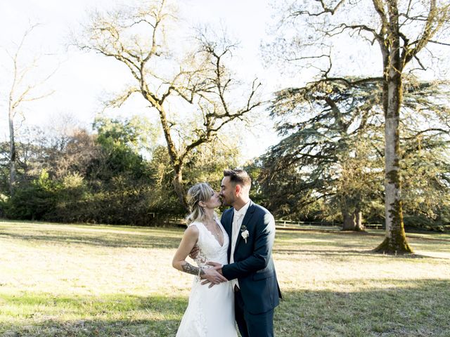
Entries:
{"type": "MultiPolygon", "coordinates": [[[[40,86],[39,95],[49,97],[23,105],[25,124],[49,126],[63,115],[72,115],[84,126],[90,126],[96,114],[103,110],[101,99],[120,91],[129,74],[114,60],[94,53],[68,47],[71,31],[77,32],[80,22],[92,8],[110,8],[121,0],[2,0],[0,1],[0,138],[8,138],[8,104],[6,95],[11,86],[11,58],[25,29],[39,23],[27,39],[24,55],[41,55],[37,78],[52,77],[40,86]],[[123,79],[123,81],[122,81],[123,79]]],[[[130,3],[130,1],[125,1],[130,3]]],[[[233,39],[240,41],[236,52],[237,73],[242,79],[259,77],[266,83],[266,97],[281,79],[274,70],[265,69],[260,58],[259,44],[264,39],[271,20],[268,1],[260,0],[184,0],[177,1],[186,27],[221,25],[233,39]],[[267,84],[269,83],[269,84],[267,84]]],[[[23,62],[30,59],[23,58],[23,62]]],[[[19,121],[21,118],[18,118],[19,121]]],[[[19,123],[17,123],[19,124],[19,123]]],[[[264,123],[263,123],[264,124],[264,123]]],[[[255,132],[243,130],[245,147],[243,159],[262,154],[278,137],[270,123],[258,126],[255,132]]]]}

